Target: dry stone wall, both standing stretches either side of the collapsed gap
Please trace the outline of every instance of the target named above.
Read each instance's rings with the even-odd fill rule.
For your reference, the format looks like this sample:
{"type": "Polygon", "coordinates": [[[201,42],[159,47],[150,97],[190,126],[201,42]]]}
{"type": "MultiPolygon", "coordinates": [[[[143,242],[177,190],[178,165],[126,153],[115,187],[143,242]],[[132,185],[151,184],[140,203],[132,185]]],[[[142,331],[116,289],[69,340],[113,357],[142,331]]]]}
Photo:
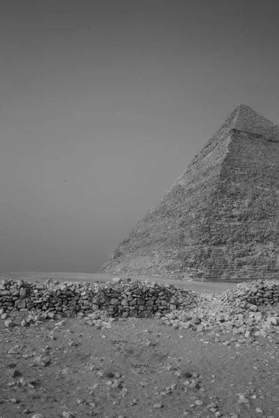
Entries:
{"type": "MultiPolygon", "coordinates": [[[[238,309],[257,311],[264,305],[278,307],[279,282],[253,281],[216,294],[220,302],[237,302],[238,309]],[[240,287],[239,287],[240,286],[240,287]]],[[[0,316],[12,312],[56,314],[64,317],[87,316],[103,311],[111,318],[151,318],[174,311],[190,311],[202,306],[207,295],[154,282],[71,283],[3,280],[0,283],[0,316]]]]}

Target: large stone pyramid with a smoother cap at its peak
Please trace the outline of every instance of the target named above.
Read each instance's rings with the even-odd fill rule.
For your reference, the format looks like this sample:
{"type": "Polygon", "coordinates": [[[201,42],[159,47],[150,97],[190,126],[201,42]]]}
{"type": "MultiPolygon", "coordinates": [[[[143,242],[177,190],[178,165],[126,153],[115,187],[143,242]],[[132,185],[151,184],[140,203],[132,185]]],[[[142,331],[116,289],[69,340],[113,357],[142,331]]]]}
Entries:
{"type": "Polygon", "coordinates": [[[239,104],[99,270],[279,278],[279,126],[239,104]]]}

